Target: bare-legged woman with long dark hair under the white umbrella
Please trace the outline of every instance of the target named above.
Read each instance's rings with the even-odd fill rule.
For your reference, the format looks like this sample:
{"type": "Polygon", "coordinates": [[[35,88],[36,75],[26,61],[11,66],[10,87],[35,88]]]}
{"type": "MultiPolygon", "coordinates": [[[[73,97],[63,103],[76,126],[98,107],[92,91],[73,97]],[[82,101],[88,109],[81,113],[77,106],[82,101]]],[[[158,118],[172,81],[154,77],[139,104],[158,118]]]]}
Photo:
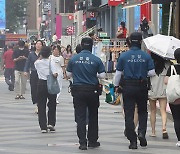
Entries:
{"type": "Polygon", "coordinates": [[[156,137],[156,103],[160,105],[160,112],[162,118],[162,138],[168,139],[168,133],[166,130],[167,124],[167,98],[166,98],[166,85],[164,78],[166,77],[167,70],[171,65],[170,61],[161,58],[160,56],[151,53],[151,57],[154,61],[156,75],[150,77],[150,90],[148,92],[149,104],[150,104],[150,122],[152,133],[151,137],[156,137]]]}

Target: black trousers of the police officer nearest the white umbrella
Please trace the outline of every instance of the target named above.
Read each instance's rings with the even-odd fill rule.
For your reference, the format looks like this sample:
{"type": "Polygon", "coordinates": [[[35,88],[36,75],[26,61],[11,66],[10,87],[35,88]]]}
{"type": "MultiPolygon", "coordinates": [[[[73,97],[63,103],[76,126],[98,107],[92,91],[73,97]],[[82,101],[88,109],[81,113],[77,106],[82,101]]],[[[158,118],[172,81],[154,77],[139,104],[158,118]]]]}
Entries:
{"type": "Polygon", "coordinates": [[[147,98],[148,90],[146,84],[125,84],[123,86],[123,101],[125,112],[125,128],[127,139],[130,142],[137,142],[137,134],[134,125],[135,104],[138,107],[139,127],[138,134],[146,135],[147,130],[147,98]]]}

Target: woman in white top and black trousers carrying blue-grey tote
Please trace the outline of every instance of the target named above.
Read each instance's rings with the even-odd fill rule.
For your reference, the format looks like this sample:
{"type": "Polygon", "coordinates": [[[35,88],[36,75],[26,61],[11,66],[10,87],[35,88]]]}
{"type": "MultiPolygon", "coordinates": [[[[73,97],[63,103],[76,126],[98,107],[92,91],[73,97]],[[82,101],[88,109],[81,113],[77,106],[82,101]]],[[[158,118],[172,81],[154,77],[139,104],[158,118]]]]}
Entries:
{"type": "MultiPolygon", "coordinates": [[[[42,47],[41,54],[34,65],[38,73],[37,85],[37,103],[38,103],[38,120],[42,133],[55,132],[56,124],[56,94],[48,93],[47,77],[49,75],[49,56],[51,54],[50,47],[42,47]],[[48,99],[48,102],[47,102],[48,99]],[[46,105],[48,106],[48,114],[46,115],[46,105]],[[47,118],[48,117],[48,118],[47,118]]],[[[53,76],[57,78],[58,72],[53,65],[51,65],[53,76]]]]}

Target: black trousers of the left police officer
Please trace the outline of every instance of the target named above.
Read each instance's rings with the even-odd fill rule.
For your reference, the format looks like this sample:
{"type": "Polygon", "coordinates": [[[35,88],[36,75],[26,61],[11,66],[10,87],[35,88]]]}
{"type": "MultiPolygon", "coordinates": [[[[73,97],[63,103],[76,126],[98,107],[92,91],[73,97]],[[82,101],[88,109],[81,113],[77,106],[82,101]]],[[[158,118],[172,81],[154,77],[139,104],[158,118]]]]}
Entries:
{"type": "Polygon", "coordinates": [[[73,93],[73,103],[75,109],[75,121],[77,122],[77,135],[80,144],[96,142],[98,140],[98,108],[99,95],[90,90],[83,91],[76,89],[73,93]],[[88,134],[86,137],[86,116],[88,108],[88,134]]]}

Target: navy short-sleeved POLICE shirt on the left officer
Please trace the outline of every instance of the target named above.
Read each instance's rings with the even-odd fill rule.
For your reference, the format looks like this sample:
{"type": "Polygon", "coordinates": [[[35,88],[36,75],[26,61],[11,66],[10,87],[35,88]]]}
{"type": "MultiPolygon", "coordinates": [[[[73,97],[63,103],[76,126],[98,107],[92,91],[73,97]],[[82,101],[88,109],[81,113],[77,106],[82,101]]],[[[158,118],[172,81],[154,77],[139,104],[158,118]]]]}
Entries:
{"type": "Polygon", "coordinates": [[[97,73],[105,72],[105,67],[100,58],[83,50],[70,59],[67,71],[72,73],[73,85],[97,85],[97,73]]]}

